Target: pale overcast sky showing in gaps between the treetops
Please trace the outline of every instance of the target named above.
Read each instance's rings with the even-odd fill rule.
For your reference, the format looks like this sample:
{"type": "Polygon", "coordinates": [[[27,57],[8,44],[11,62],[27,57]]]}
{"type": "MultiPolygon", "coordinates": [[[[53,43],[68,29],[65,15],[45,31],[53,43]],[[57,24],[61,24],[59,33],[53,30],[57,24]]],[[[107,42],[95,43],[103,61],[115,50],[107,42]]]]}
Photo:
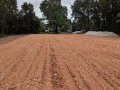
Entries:
{"type": "MultiPolygon", "coordinates": [[[[30,2],[34,5],[34,9],[35,9],[35,13],[38,17],[42,17],[42,13],[40,12],[40,3],[42,2],[43,0],[17,0],[17,3],[18,3],[18,8],[21,9],[21,5],[23,4],[23,2],[30,2]]],[[[75,0],[62,0],[62,5],[63,6],[67,6],[68,8],[68,18],[71,18],[71,5],[74,3],[75,0]]]]}

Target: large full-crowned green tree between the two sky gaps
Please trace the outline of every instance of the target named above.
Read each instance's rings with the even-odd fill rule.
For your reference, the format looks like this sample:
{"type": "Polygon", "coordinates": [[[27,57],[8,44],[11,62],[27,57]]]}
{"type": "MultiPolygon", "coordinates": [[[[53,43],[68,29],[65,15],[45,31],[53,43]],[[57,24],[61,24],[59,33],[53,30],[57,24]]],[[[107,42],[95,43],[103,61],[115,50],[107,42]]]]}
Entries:
{"type": "Polygon", "coordinates": [[[68,29],[67,7],[61,5],[61,0],[44,0],[40,9],[48,20],[49,27],[53,28],[55,33],[58,33],[58,29],[61,31],[68,29]]]}

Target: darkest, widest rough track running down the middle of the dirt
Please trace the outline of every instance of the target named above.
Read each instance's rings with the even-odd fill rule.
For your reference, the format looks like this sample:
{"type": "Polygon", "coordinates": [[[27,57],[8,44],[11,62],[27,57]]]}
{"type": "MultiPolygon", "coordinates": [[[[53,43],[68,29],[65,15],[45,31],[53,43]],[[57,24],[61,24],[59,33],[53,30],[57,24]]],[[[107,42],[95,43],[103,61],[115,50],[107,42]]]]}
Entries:
{"type": "Polygon", "coordinates": [[[59,66],[59,63],[56,59],[55,56],[55,50],[53,47],[53,44],[51,43],[52,41],[49,41],[50,43],[50,57],[51,57],[51,67],[50,67],[50,72],[51,72],[51,78],[52,78],[52,85],[54,90],[59,90],[64,88],[64,78],[62,75],[62,70],[59,66]]]}

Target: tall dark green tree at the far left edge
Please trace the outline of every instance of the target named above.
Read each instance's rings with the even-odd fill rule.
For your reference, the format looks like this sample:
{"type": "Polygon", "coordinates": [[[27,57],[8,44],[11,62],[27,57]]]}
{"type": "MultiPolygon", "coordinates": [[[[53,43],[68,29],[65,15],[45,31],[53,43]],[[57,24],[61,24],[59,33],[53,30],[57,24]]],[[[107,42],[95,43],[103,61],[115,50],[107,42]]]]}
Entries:
{"type": "Polygon", "coordinates": [[[11,34],[15,25],[17,12],[16,0],[0,0],[0,33],[11,34]]]}

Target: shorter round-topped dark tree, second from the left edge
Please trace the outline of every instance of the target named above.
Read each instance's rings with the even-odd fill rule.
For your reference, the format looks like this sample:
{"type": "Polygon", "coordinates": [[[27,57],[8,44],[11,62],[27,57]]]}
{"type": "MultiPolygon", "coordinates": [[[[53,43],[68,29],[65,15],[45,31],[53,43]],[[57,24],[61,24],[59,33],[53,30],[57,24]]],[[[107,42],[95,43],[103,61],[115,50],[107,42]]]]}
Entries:
{"type": "Polygon", "coordinates": [[[21,7],[20,20],[22,22],[20,27],[23,28],[23,31],[20,33],[38,33],[40,20],[35,16],[34,6],[25,2],[21,7]]]}

